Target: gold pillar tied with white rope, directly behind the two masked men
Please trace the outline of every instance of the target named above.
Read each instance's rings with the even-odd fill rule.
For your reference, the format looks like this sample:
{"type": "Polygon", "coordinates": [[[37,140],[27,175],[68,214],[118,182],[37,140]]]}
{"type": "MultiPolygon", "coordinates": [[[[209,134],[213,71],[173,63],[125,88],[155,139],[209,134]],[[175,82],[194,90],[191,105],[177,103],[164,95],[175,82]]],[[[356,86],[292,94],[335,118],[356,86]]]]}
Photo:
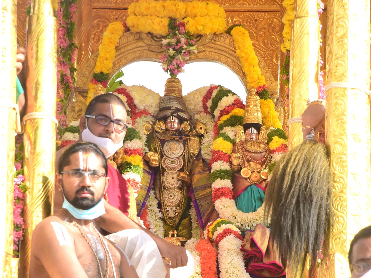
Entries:
{"type": "Polygon", "coordinates": [[[26,234],[21,244],[20,277],[29,272],[35,226],[50,215],[53,202],[56,131],[56,18],[51,0],[33,0],[27,33],[27,115],[24,173],[29,191],[24,206],[26,234]]]}

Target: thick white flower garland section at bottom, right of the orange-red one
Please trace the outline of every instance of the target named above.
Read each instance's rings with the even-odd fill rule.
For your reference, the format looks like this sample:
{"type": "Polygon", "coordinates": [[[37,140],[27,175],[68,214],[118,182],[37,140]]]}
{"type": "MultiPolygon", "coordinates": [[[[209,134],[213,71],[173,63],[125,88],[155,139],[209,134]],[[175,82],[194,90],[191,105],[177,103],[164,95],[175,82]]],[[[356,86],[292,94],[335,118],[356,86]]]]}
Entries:
{"type": "Polygon", "coordinates": [[[250,278],[246,273],[243,253],[240,251],[242,241],[234,235],[223,238],[218,246],[220,278],[250,278]]]}

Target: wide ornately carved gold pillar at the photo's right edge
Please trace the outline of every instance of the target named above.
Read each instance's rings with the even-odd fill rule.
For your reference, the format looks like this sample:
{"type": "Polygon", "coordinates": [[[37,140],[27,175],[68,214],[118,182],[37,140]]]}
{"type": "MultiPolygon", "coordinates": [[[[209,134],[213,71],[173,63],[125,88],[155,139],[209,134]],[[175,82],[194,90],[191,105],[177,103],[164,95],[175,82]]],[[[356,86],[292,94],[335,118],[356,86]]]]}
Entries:
{"type": "Polygon", "coordinates": [[[370,1],[329,1],[326,145],[335,223],[321,277],[350,277],[349,244],[370,225],[370,1]]]}

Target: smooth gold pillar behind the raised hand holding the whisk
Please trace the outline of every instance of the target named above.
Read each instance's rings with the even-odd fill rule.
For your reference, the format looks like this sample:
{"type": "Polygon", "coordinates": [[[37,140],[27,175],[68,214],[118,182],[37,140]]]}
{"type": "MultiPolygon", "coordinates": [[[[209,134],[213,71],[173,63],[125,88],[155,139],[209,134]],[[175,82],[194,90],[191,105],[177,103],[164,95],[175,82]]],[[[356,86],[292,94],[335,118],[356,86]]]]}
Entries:
{"type": "MultiPolygon", "coordinates": [[[[319,20],[317,0],[296,0],[290,45],[289,119],[301,117],[308,99],[318,99],[319,20]]],[[[289,148],[303,140],[301,123],[289,125],[289,148]]]]}

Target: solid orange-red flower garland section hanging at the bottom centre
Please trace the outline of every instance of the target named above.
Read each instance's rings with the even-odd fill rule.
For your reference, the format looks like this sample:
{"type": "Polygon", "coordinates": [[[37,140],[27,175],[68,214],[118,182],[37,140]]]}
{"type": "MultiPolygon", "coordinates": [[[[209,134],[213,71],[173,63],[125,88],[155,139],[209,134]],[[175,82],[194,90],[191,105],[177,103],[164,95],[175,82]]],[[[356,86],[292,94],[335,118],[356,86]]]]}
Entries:
{"type": "Polygon", "coordinates": [[[200,253],[201,275],[203,278],[217,278],[216,250],[206,239],[200,239],[196,244],[196,251],[200,253]]]}

